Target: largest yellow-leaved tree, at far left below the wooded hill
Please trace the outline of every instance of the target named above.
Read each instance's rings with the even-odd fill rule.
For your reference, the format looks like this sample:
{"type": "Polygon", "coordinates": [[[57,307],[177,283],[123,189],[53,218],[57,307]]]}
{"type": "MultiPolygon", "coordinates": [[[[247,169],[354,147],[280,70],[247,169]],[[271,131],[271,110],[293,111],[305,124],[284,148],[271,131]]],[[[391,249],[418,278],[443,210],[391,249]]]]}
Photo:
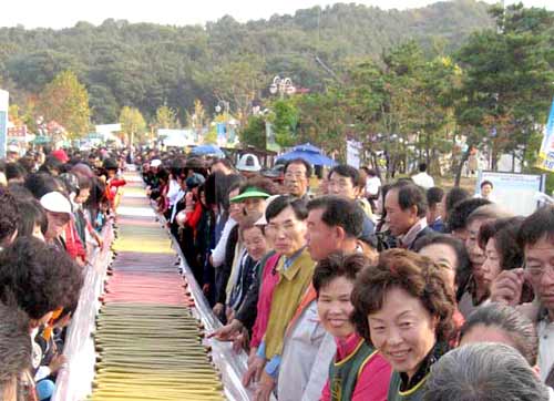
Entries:
{"type": "Polygon", "coordinates": [[[61,124],[71,137],[80,137],[90,128],[89,93],[71,71],[59,73],[39,96],[38,111],[61,124]]]}

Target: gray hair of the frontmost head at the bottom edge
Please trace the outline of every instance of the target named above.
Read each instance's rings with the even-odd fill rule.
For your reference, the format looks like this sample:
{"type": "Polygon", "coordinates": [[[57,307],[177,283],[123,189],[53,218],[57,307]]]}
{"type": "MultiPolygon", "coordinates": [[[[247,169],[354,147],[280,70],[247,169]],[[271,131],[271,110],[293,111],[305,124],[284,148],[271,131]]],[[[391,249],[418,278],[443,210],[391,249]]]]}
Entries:
{"type": "Polygon", "coordinates": [[[512,347],[480,342],[456,348],[432,368],[424,401],[548,401],[548,391],[512,347]]]}

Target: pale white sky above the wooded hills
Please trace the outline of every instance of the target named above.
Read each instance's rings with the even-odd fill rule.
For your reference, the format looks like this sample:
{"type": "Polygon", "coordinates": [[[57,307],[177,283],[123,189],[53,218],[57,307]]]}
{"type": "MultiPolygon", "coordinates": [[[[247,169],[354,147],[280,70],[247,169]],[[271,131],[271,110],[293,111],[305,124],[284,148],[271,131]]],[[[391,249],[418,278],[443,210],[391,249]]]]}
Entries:
{"type": "MultiPolygon", "coordinates": [[[[294,14],[297,9],[328,6],[321,0],[3,0],[0,27],[22,24],[32,28],[68,28],[79,21],[95,25],[105,19],[162,24],[204,24],[229,14],[240,22],[267,19],[275,13],[294,14]]],[[[345,2],[352,2],[347,0],[345,2]]],[[[358,0],[358,3],[384,9],[424,7],[434,0],[358,0]]],[[[494,2],[486,0],[486,2],[494,2]]],[[[506,0],[506,4],[515,2],[506,0]]],[[[523,0],[526,7],[554,10],[554,0],[523,0]]]]}

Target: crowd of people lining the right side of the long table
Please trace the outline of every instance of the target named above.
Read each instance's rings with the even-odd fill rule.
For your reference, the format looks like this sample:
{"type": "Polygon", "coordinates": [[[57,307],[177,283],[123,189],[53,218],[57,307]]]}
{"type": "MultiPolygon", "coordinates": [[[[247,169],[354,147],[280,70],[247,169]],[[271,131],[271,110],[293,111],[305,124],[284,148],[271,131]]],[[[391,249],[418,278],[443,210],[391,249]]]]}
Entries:
{"type": "Polygon", "coordinates": [[[151,155],[143,176],[269,400],[554,399],[554,208],[513,216],[492,183],[437,187],[424,164],[265,176],[256,156],[151,155]]]}

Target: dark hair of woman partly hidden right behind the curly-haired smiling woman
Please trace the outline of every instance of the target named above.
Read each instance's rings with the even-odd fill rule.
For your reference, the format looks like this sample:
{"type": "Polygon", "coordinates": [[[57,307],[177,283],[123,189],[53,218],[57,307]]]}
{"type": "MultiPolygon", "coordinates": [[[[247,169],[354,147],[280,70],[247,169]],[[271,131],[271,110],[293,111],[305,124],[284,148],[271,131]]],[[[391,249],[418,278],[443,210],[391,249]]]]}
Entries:
{"type": "Polygon", "coordinates": [[[458,301],[462,299],[462,296],[465,292],[468,281],[471,278],[472,266],[470,260],[470,255],[468,254],[468,249],[461,239],[458,239],[449,234],[433,234],[425,235],[421,239],[416,243],[416,251],[419,253],[427,246],[441,244],[450,246],[458,259],[458,266],[455,270],[455,284],[458,286],[458,292],[455,298],[458,301]]]}

